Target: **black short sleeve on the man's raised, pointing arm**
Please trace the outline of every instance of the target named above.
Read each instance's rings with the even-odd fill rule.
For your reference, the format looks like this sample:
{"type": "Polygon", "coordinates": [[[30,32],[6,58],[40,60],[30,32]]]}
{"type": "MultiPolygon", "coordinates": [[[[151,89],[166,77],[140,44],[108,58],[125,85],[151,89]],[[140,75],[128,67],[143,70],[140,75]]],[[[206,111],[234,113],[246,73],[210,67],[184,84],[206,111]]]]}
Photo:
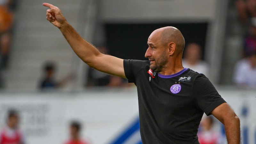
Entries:
{"type": "Polygon", "coordinates": [[[148,67],[149,61],[146,60],[124,60],[124,73],[129,83],[136,84],[137,73],[142,69],[148,67]]]}

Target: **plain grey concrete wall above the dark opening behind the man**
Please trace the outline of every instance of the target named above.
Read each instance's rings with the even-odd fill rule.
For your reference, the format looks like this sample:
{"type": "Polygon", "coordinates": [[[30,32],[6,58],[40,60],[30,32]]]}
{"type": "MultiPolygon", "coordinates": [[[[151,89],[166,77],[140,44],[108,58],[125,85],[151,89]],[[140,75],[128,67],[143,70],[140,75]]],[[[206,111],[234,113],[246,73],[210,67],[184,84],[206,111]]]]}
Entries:
{"type": "Polygon", "coordinates": [[[107,22],[213,20],[216,0],[102,0],[100,19],[107,22]]]}

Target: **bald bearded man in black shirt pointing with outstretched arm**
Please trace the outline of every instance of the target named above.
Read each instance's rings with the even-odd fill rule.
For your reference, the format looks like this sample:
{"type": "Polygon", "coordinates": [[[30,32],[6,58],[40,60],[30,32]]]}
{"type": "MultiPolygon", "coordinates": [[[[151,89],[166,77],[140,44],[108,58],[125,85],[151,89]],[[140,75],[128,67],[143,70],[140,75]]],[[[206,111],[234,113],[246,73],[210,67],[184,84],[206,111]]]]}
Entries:
{"type": "Polygon", "coordinates": [[[174,27],[156,29],[148,37],[149,61],[123,60],[100,53],[68,24],[60,9],[50,9],[46,19],[58,27],[74,52],[90,67],[126,77],[137,86],[140,133],[147,144],[198,144],[197,129],[205,112],[224,125],[228,143],[240,143],[240,121],[202,74],[182,67],[185,45],[174,27]]]}

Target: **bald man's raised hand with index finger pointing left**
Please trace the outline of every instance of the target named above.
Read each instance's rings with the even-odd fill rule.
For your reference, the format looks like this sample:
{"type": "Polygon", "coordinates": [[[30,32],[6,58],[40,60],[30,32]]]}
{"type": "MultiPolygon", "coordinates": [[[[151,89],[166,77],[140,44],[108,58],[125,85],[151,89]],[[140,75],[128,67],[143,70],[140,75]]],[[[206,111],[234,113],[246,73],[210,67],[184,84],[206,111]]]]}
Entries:
{"type": "Polygon", "coordinates": [[[57,28],[61,28],[67,20],[62,15],[60,9],[52,4],[43,3],[44,6],[51,9],[46,10],[46,20],[50,21],[57,28]]]}

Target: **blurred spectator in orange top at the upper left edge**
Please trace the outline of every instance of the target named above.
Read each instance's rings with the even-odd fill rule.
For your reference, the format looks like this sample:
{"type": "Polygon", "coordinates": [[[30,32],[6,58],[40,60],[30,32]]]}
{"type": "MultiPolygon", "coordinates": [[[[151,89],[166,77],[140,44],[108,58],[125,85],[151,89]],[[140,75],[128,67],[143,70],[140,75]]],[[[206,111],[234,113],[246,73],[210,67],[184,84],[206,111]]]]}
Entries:
{"type": "Polygon", "coordinates": [[[11,0],[0,0],[0,55],[1,67],[6,68],[12,40],[14,14],[10,10],[11,0]]]}

